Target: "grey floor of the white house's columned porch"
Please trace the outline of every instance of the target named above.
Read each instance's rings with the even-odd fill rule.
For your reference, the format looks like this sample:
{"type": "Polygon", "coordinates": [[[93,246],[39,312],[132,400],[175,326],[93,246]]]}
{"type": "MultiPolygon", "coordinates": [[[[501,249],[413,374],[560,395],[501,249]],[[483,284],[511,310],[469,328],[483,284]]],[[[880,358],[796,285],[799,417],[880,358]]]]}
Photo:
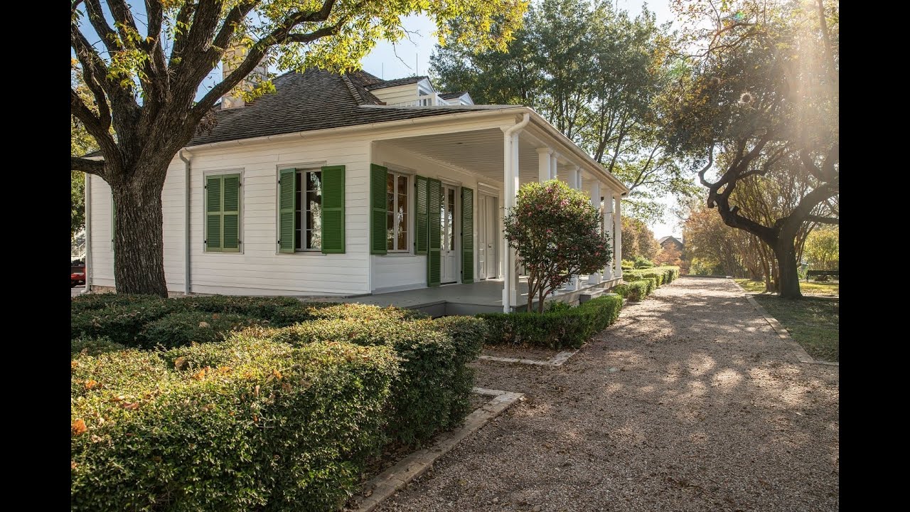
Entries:
{"type": "MultiPolygon", "coordinates": [[[[622,282],[622,278],[589,284],[588,276],[582,276],[579,290],[561,291],[547,297],[545,302],[559,301],[570,304],[586,302],[602,293],[609,292],[622,282]]],[[[481,312],[502,312],[501,279],[488,279],[466,284],[443,284],[432,288],[419,288],[403,292],[379,293],[339,299],[339,302],[355,302],[377,306],[396,306],[420,310],[431,316],[473,315],[481,312]]],[[[521,277],[518,283],[519,301],[511,311],[525,311],[528,302],[528,279],[521,277]]],[[[534,305],[537,305],[537,301],[534,305]]]]}

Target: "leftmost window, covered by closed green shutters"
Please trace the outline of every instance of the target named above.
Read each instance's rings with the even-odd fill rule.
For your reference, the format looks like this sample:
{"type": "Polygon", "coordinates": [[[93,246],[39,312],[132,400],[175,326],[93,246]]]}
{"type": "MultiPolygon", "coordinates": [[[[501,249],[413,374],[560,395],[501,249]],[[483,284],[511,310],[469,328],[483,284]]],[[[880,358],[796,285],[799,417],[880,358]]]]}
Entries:
{"type": "Polygon", "coordinates": [[[206,177],[206,251],[240,251],[240,175],[206,177]]]}

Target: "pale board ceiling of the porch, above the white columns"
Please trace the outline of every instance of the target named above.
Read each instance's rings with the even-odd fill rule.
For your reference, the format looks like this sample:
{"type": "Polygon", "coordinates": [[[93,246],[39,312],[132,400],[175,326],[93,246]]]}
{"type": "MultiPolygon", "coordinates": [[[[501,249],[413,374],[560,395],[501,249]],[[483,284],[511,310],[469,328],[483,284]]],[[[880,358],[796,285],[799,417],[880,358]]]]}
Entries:
{"type": "MultiPolygon", "coordinates": [[[[420,137],[394,138],[379,144],[435,160],[440,164],[479,175],[490,184],[502,184],[502,130],[499,128],[461,131],[420,137]]],[[[536,138],[519,136],[519,180],[521,184],[537,181],[539,143],[536,138]]],[[[568,165],[560,165],[561,178],[568,165]]],[[[587,191],[591,179],[583,179],[587,191]]]]}

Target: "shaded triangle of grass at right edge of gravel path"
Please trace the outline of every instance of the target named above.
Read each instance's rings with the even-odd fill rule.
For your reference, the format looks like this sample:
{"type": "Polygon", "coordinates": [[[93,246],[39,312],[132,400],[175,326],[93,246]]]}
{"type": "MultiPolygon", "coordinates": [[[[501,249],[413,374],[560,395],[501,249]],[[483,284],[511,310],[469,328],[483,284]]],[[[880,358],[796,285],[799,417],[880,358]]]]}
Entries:
{"type": "Polygon", "coordinates": [[[840,301],[805,297],[801,301],[779,299],[772,295],[754,295],[771,316],[777,319],[790,337],[815,359],[837,363],[840,326],[840,301]]]}

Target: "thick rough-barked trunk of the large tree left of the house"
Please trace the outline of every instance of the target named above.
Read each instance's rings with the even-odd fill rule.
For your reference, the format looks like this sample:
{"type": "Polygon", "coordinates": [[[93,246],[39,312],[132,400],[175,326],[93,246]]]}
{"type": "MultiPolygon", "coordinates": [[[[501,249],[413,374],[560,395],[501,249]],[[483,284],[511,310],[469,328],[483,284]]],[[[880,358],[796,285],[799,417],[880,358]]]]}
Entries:
{"type": "Polygon", "coordinates": [[[161,190],[168,163],[165,159],[156,166],[161,169],[129,169],[124,173],[128,178],[111,184],[117,293],[167,297],[161,190]]]}

